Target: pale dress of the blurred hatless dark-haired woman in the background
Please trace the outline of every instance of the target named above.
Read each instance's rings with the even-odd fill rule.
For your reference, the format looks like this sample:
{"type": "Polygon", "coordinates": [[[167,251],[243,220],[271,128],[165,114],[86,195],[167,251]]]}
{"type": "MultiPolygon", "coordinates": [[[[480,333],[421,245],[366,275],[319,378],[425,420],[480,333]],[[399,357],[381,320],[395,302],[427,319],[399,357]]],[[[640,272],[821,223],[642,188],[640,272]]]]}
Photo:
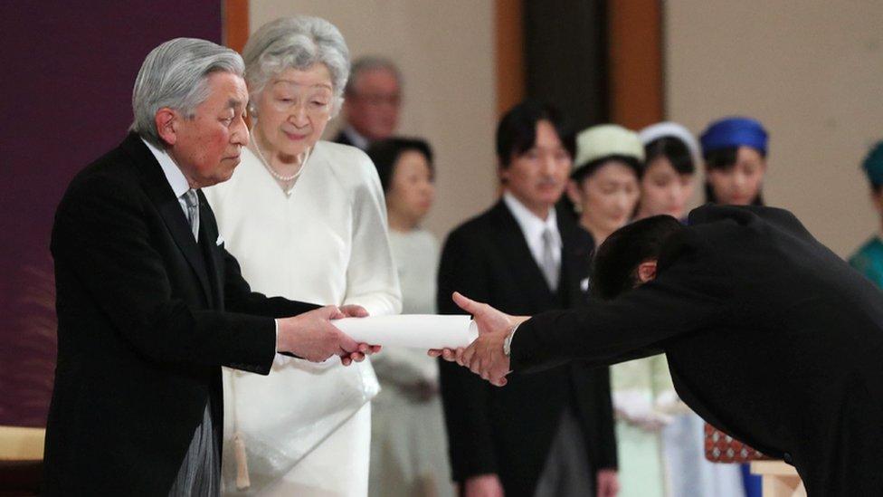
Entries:
{"type": "MultiPolygon", "coordinates": [[[[389,241],[403,312],[435,314],[438,241],[423,229],[391,231],[389,241]]],[[[425,350],[385,347],[374,363],[383,391],[374,400],[368,494],[453,497],[437,359],[425,350]]]]}

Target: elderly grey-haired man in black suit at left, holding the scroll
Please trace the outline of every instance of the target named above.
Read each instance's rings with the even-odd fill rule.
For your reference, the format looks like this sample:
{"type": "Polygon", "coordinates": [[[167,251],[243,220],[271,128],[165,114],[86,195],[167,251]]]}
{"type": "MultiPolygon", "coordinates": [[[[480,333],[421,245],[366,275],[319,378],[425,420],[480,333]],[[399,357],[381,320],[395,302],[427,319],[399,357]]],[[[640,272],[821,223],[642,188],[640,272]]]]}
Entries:
{"type": "Polygon", "coordinates": [[[58,207],[47,494],[217,495],[221,366],[266,375],[277,352],[375,351],[330,322],[363,309],[252,292],[223,247],[199,188],[228,179],[248,143],[242,72],[214,43],[159,45],[138,72],[132,132],[58,207]]]}

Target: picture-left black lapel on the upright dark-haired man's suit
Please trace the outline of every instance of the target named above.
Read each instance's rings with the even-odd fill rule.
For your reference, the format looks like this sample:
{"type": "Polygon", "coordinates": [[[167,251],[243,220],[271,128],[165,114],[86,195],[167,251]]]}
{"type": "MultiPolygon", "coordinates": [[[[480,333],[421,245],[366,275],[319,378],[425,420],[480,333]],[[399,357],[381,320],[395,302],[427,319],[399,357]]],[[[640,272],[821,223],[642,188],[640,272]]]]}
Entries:
{"type": "Polygon", "coordinates": [[[495,225],[498,227],[499,246],[504,247],[503,255],[520,280],[521,287],[530,294],[531,302],[547,301],[554,292],[549,289],[546,277],[536,264],[536,259],[527,246],[525,234],[521,231],[515,216],[509,212],[508,206],[502,200],[494,206],[493,213],[497,218],[495,225]]]}

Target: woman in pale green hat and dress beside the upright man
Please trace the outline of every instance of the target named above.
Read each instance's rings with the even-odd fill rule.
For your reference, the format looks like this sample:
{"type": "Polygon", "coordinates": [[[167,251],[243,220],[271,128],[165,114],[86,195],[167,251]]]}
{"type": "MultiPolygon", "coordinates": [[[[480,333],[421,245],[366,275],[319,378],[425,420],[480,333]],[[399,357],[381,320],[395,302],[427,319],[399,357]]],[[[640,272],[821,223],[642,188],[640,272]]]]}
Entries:
{"type": "MultiPolygon", "coordinates": [[[[637,133],[612,124],[576,137],[574,172],[567,195],[594,246],[629,223],[638,205],[644,148],[637,133]]],[[[591,283],[590,283],[591,284],[591,283]]],[[[610,368],[620,497],[663,497],[660,428],[677,401],[664,356],[640,358],[610,368]]]]}

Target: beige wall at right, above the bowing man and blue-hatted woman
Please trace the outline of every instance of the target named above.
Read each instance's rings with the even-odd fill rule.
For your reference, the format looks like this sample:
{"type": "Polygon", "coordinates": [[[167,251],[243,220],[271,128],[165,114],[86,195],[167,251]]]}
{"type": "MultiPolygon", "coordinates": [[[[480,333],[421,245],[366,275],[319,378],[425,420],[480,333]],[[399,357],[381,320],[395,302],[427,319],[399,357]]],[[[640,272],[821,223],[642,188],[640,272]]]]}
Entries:
{"type": "Polygon", "coordinates": [[[879,229],[859,162],[883,139],[880,26],[876,0],[665,3],[669,119],[697,133],[729,114],[764,122],[767,202],[840,255],[879,229]]]}

